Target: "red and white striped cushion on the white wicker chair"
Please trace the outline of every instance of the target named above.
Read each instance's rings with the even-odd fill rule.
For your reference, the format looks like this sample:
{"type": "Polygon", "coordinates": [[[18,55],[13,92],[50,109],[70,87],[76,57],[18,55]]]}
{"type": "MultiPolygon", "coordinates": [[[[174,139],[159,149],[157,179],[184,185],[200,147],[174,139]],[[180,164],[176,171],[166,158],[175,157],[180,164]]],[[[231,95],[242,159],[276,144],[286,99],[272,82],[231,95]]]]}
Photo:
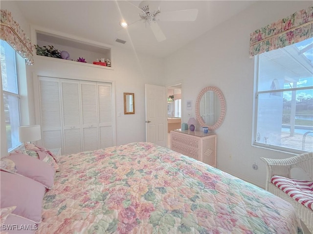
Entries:
{"type": "Polygon", "coordinates": [[[294,200],[313,210],[313,181],[272,176],[271,182],[294,200]]]}

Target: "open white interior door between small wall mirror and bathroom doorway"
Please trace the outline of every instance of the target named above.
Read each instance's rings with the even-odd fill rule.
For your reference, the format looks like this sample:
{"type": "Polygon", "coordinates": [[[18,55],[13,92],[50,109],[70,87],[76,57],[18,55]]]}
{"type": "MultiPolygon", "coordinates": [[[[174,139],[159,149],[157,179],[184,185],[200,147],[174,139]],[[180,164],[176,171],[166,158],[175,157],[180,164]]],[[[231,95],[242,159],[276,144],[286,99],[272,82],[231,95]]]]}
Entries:
{"type": "Polygon", "coordinates": [[[146,84],[146,141],[167,145],[166,88],[146,84]]]}

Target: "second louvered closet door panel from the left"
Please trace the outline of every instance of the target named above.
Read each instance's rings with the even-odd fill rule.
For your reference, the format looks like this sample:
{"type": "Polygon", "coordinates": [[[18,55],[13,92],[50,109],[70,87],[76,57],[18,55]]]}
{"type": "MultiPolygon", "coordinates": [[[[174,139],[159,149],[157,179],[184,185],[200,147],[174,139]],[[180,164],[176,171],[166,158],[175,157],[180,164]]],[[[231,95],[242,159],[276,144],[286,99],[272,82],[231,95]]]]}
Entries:
{"type": "Polygon", "coordinates": [[[79,82],[61,79],[64,154],[82,152],[79,82]]]}

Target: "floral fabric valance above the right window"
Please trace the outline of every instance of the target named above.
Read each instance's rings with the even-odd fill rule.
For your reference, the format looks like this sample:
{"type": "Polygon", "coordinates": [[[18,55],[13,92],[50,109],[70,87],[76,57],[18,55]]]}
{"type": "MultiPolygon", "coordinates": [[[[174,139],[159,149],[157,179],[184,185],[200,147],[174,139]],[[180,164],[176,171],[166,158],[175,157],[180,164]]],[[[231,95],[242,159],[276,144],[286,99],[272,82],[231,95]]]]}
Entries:
{"type": "Polygon", "coordinates": [[[312,37],[313,7],[309,7],[251,33],[249,55],[252,58],[312,37]]]}

